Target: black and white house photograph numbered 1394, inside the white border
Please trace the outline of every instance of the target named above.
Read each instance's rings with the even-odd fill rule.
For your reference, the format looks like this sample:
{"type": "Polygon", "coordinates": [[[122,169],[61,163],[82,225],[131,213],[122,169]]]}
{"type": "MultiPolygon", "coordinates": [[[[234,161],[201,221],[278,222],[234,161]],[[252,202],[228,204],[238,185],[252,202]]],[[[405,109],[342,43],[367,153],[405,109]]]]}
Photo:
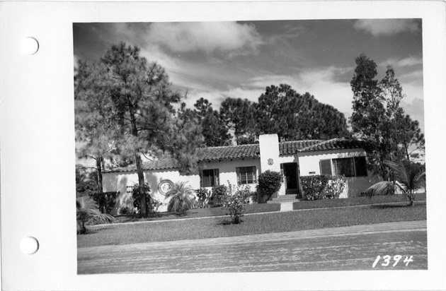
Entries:
{"type": "Polygon", "coordinates": [[[72,35],[78,275],[428,270],[421,18],[72,35]]]}

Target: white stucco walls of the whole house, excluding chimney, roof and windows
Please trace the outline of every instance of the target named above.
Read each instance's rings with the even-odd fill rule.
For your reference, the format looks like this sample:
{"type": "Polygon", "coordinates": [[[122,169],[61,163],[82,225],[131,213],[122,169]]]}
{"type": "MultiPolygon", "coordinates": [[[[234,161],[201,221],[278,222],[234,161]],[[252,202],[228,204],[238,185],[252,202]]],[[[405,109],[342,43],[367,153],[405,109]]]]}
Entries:
{"type": "MultiPolygon", "coordinates": [[[[307,176],[311,174],[321,174],[319,167],[320,160],[335,159],[335,158],[352,158],[364,156],[363,150],[333,150],[333,151],[320,151],[311,153],[299,153],[297,155],[280,155],[274,159],[274,164],[278,167],[280,172],[280,164],[287,162],[296,162],[299,165],[300,176],[307,176]]],[[[261,174],[261,158],[244,158],[244,159],[232,159],[232,160],[212,160],[201,161],[199,167],[202,170],[219,169],[219,183],[227,185],[227,182],[231,182],[233,185],[237,185],[236,167],[256,167],[256,181],[258,175],[261,174]]],[[[144,178],[149,184],[151,189],[151,195],[157,200],[167,203],[164,194],[161,194],[158,190],[159,183],[164,179],[169,179],[173,183],[188,182],[193,189],[200,188],[200,175],[181,175],[177,170],[158,170],[144,172],[144,178]]],[[[368,173],[367,177],[348,177],[347,185],[341,194],[340,198],[347,198],[352,196],[359,196],[361,192],[365,191],[372,184],[379,182],[379,177],[368,173]]],[[[113,172],[103,174],[103,191],[120,191],[118,201],[116,203],[113,214],[117,213],[120,206],[125,204],[125,201],[131,200],[132,194],[127,193],[127,186],[133,186],[137,184],[138,177],[136,172],[113,172]]],[[[256,190],[256,184],[248,184],[251,187],[251,191],[256,190]]],[[[211,189],[211,187],[207,187],[211,189]]],[[[285,184],[282,184],[282,188],[279,194],[285,194],[285,184]]],[[[166,211],[167,206],[161,206],[159,211],[166,211]]]]}

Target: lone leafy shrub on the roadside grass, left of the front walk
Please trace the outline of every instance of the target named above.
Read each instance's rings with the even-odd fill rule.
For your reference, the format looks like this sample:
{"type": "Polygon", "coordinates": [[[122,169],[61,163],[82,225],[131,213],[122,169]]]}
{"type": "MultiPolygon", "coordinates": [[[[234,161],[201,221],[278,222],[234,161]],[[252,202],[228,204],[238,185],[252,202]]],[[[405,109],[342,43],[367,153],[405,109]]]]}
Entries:
{"type": "Polygon", "coordinates": [[[243,213],[245,212],[246,204],[249,203],[249,196],[251,196],[251,188],[249,186],[234,186],[228,181],[229,187],[226,194],[223,196],[223,208],[226,208],[231,216],[231,221],[234,224],[239,224],[243,213]]]}

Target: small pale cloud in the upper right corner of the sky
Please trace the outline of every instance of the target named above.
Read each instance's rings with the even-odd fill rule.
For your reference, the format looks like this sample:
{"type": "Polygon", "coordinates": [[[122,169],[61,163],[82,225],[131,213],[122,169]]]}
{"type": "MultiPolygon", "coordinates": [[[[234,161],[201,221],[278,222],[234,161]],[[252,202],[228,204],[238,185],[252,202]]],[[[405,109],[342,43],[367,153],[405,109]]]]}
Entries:
{"type": "Polygon", "coordinates": [[[360,19],[355,21],[354,26],[357,30],[370,32],[374,37],[421,30],[420,23],[415,19],[360,19]]]}

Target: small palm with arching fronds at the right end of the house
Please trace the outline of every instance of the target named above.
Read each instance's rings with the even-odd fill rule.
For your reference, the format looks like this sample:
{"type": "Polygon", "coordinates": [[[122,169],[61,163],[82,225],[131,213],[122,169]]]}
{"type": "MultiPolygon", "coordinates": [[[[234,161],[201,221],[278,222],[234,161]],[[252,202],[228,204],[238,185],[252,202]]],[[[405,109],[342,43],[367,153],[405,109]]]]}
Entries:
{"type": "Polygon", "coordinates": [[[393,172],[395,181],[378,182],[365,190],[365,194],[369,197],[390,195],[399,190],[408,199],[409,206],[413,206],[416,190],[425,188],[425,165],[409,160],[403,160],[399,163],[386,160],[384,164],[393,172]]]}

